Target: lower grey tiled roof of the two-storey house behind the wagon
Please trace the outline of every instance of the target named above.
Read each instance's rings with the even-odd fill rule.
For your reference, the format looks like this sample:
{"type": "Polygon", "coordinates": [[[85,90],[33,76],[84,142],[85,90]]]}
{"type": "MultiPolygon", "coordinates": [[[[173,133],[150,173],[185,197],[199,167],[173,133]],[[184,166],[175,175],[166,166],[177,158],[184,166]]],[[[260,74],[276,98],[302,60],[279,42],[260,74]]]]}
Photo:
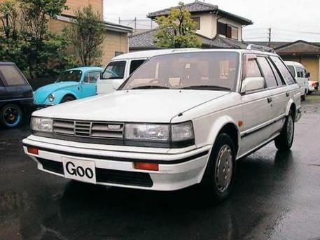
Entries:
{"type": "MultiPolygon", "coordinates": [[[[153,42],[155,41],[155,31],[152,29],[141,34],[133,34],[129,37],[130,50],[146,50],[159,48],[153,42]]],[[[230,38],[216,36],[215,38],[207,38],[197,34],[202,42],[202,48],[246,48],[248,43],[237,41],[230,38]]]]}

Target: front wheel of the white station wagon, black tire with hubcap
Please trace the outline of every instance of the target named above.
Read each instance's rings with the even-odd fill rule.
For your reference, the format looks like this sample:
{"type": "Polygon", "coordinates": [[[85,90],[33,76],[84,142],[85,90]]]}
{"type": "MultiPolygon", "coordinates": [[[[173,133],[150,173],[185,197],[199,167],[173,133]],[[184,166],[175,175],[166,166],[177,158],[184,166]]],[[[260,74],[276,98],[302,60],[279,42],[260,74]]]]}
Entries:
{"type": "Polygon", "coordinates": [[[202,194],[210,204],[227,199],[235,180],[235,145],[228,134],[219,134],[211,150],[201,182],[202,194]]]}

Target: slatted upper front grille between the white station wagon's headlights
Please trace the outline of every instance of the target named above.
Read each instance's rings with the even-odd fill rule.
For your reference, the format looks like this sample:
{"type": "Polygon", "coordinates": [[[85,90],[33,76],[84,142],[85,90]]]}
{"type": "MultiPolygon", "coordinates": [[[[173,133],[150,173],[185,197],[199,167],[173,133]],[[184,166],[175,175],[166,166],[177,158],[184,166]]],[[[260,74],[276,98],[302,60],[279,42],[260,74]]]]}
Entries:
{"type": "Polygon", "coordinates": [[[123,139],[123,123],[53,120],[53,133],[96,139],[123,139]]]}

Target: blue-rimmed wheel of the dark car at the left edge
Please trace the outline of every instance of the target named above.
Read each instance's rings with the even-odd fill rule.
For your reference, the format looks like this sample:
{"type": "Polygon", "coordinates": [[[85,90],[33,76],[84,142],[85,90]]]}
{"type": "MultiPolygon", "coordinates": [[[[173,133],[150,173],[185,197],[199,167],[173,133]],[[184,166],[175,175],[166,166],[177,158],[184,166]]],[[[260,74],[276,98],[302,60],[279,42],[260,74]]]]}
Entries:
{"type": "Polygon", "coordinates": [[[16,127],[22,120],[22,111],[15,104],[8,104],[1,109],[1,124],[6,127],[16,127]]]}

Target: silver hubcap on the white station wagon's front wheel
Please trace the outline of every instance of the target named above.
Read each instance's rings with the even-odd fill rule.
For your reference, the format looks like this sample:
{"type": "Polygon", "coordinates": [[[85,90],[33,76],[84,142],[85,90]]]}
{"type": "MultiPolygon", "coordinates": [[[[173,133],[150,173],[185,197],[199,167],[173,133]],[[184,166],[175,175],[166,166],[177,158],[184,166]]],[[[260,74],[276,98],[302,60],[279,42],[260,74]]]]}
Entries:
{"type": "Polygon", "coordinates": [[[230,185],[232,178],[232,150],[230,146],[224,145],[216,161],[216,186],[218,192],[225,192],[230,185]]]}

